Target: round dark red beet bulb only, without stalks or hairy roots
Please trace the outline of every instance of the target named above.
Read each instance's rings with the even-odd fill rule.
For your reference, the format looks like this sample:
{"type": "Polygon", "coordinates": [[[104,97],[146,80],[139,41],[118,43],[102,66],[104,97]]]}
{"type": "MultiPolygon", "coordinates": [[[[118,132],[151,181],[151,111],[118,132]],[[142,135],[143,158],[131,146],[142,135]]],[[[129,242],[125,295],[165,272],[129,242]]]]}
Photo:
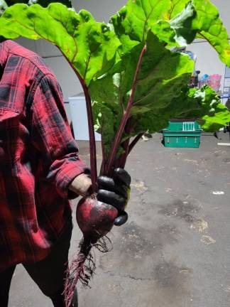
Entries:
{"type": "Polygon", "coordinates": [[[114,225],[118,210],[97,198],[82,198],[77,205],[77,224],[92,241],[106,235],[114,225]]]}

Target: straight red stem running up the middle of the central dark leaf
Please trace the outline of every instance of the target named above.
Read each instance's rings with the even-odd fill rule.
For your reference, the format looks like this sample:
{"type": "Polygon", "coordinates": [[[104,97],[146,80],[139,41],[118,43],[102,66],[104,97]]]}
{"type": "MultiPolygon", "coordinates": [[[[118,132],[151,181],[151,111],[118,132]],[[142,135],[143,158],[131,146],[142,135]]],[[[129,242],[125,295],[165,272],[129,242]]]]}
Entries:
{"type": "Polygon", "coordinates": [[[137,77],[138,77],[138,73],[140,71],[141,68],[141,60],[143,58],[143,55],[146,53],[146,45],[143,46],[143,49],[141,50],[141,54],[139,56],[138,59],[138,65],[136,67],[136,72],[133,78],[133,85],[132,85],[132,90],[131,90],[131,95],[128,99],[128,105],[126,110],[124,111],[123,117],[121,119],[121,124],[119,126],[119,130],[116,133],[115,139],[114,139],[114,143],[111,149],[111,153],[109,154],[109,159],[108,159],[108,166],[106,168],[106,175],[110,175],[111,176],[111,171],[114,165],[114,160],[116,158],[116,151],[118,149],[119,143],[121,141],[121,136],[124,132],[126,123],[128,121],[128,117],[130,115],[131,112],[131,107],[133,106],[133,98],[135,95],[135,91],[136,91],[136,85],[137,85],[137,77]]]}

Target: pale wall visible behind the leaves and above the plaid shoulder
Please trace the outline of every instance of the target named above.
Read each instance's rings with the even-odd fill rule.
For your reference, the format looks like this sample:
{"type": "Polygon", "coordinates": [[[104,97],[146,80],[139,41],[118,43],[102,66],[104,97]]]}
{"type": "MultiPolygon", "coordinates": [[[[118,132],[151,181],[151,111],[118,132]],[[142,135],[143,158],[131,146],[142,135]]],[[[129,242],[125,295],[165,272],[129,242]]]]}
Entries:
{"type": "MultiPolygon", "coordinates": [[[[218,7],[220,16],[230,36],[230,1],[212,0],[212,2],[218,7]]],[[[77,11],[87,9],[94,15],[97,21],[105,22],[109,20],[109,16],[115,14],[124,4],[126,4],[126,0],[73,0],[73,5],[77,11]]],[[[57,80],[60,82],[65,100],[78,92],[82,92],[82,88],[75,74],[55,46],[43,40],[34,42],[20,39],[18,41],[27,48],[31,48],[31,50],[45,57],[45,63],[52,68],[57,76],[57,80]]],[[[191,50],[197,55],[197,70],[201,70],[201,75],[204,75],[204,73],[209,75],[215,73],[224,75],[225,66],[219,60],[215,50],[212,50],[212,47],[208,43],[196,41],[192,45],[189,45],[187,50],[191,50]]]]}

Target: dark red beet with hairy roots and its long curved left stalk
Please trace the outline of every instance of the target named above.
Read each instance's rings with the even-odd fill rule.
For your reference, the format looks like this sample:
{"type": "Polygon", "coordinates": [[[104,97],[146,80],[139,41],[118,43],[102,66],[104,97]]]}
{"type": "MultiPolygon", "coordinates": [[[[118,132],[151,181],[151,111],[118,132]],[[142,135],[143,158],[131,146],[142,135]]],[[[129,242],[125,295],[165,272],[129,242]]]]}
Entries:
{"type": "MultiPolygon", "coordinates": [[[[68,62],[70,63],[69,60],[68,62]]],[[[79,225],[80,230],[82,230],[83,238],[79,246],[80,251],[66,272],[67,277],[65,279],[64,289],[66,307],[72,306],[72,298],[75,293],[77,281],[80,280],[84,286],[88,286],[89,280],[94,274],[96,266],[92,254],[92,247],[99,249],[101,252],[109,251],[106,245],[106,240],[103,237],[106,237],[106,234],[111,230],[111,227],[114,225],[114,220],[118,216],[118,210],[116,210],[114,206],[99,202],[96,197],[98,186],[97,156],[91,98],[84,80],[74,66],[72,66],[71,63],[70,65],[72,69],[75,70],[75,73],[80,80],[87,105],[92,195],[87,198],[82,198],[77,205],[77,224],[79,225]]]]}

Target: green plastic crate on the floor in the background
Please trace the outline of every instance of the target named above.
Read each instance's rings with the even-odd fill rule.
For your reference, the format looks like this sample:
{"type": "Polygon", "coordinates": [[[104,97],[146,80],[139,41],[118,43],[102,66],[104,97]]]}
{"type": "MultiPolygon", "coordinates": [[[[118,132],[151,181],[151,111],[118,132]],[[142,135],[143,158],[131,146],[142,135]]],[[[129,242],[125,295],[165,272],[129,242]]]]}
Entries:
{"type": "Polygon", "coordinates": [[[170,121],[163,129],[165,147],[199,148],[202,129],[197,122],[170,121]]]}

